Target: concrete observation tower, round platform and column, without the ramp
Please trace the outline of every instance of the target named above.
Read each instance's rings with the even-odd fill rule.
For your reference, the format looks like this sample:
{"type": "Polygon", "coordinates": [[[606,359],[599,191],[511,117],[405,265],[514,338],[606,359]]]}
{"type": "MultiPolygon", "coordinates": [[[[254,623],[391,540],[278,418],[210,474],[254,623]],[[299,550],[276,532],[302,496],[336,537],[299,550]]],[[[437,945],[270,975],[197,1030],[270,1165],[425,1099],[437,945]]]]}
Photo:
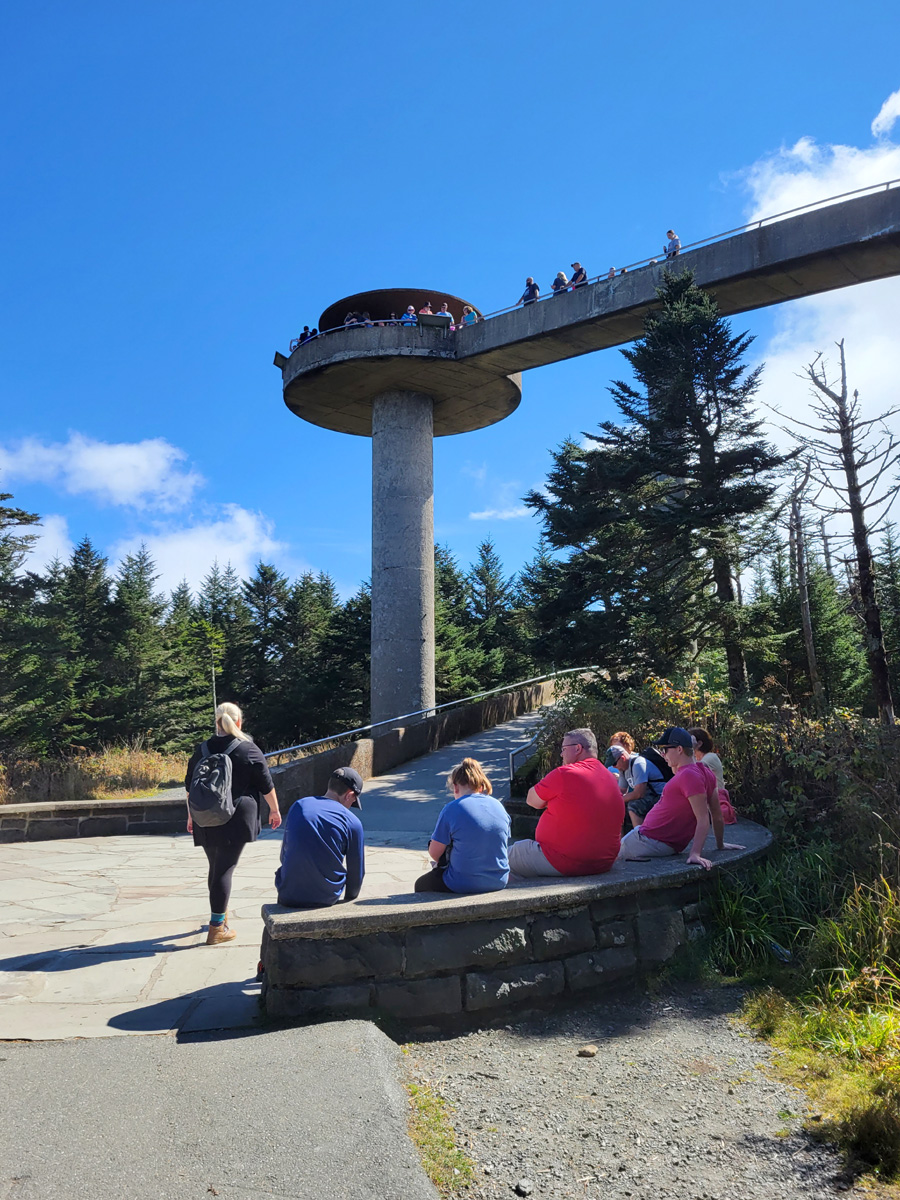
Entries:
{"type": "Polygon", "coordinates": [[[360,293],[323,312],[319,329],[334,332],[275,356],[292,413],[372,438],[373,722],[434,704],[432,439],[502,421],[522,396],[518,374],[458,361],[457,338],[472,330],[450,332],[440,318],[336,328],[347,312],[379,322],[426,301],[434,312],[446,301],[457,320],[468,302],[421,288],[360,293]]]}

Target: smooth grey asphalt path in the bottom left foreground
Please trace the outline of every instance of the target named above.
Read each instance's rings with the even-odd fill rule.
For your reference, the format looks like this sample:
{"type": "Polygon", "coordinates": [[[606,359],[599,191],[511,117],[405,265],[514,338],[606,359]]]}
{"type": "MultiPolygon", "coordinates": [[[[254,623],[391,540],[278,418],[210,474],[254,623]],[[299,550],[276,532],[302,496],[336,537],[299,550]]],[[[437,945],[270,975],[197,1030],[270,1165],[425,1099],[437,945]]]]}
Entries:
{"type": "Polygon", "coordinates": [[[437,1200],[368,1021],[0,1045],[0,1200],[437,1200]]]}

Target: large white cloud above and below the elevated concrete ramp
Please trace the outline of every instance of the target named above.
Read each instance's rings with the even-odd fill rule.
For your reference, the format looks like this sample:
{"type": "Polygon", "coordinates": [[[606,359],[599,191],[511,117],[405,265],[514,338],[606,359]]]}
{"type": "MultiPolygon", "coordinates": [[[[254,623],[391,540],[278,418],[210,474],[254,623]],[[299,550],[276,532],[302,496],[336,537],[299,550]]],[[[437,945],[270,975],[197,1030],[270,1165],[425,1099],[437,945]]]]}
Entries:
{"type": "MultiPolygon", "coordinates": [[[[890,113],[900,115],[900,92],[886,101],[872,132],[889,131],[894,120],[890,113]]],[[[811,138],[802,138],[791,149],[755,163],[745,174],[751,196],[749,220],[896,178],[900,178],[900,145],[889,142],[868,148],[818,145],[811,138]]],[[[872,418],[892,408],[900,377],[899,311],[900,278],[779,305],[768,343],[754,346],[754,352],[766,361],[760,400],[784,416],[810,420],[810,384],[798,376],[822,352],[833,378],[838,367],[835,342],[844,338],[847,382],[851,392],[859,391],[863,415],[872,418]]],[[[773,440],[782,446],[788,444],[790,438],[778,428],[784,422],[778,416],[769,420],[773,440]]],[[[893,428],[900,434],[896,418],[893,428]]]]}

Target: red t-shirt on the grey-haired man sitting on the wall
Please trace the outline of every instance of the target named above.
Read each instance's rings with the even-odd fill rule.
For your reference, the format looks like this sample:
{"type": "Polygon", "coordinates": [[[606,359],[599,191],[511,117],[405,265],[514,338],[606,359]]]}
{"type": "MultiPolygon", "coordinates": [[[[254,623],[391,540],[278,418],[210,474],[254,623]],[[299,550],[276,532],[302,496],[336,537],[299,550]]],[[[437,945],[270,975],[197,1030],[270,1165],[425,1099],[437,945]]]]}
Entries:
{"type": "Polygon", "coordinates": [[[563,875],[600,875],[616,862],[625,820],[618,784],[599,758],[557,767],[534,786],[547,806],[535,839],[563,875]]]}

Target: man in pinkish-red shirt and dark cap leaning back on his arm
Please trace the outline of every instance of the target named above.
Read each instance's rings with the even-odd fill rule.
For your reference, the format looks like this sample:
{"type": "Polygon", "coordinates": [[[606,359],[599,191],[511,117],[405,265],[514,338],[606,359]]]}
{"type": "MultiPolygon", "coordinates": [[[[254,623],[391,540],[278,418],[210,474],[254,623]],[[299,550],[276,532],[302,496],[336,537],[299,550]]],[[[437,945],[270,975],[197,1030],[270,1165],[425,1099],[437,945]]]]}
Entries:
{"type": "Polygon", "coordinates": [[[646,862],[671,858],[688,850],[688,862],[708,871],[713,864],[702,857],[701,851],[710,820],[716,850],[743,850],[743,846],[724,840],[719,784],[706,763],[694,761],[690,733],[679,726],[670,726],[653,745],[665,756],[674,774],[643,823],[622,839],[619,858],[646,862]]]}

